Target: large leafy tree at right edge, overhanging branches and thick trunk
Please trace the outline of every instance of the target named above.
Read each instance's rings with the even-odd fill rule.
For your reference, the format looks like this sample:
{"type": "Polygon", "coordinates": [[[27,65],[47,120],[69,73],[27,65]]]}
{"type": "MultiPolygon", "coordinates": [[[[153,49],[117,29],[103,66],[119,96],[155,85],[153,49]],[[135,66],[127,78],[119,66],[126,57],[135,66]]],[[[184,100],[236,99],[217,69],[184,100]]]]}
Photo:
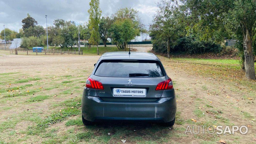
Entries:
{"type": "Polygon", "coordinates": [[[232,35],[240,29],[243,38],[245,76],[255,80],[253,60],[253,39],[256,25],[255,0],[185,0],[184,4],[190,16],[190,27],[195,25],[204,33],[222,39],[223,33],[232,35]]]}

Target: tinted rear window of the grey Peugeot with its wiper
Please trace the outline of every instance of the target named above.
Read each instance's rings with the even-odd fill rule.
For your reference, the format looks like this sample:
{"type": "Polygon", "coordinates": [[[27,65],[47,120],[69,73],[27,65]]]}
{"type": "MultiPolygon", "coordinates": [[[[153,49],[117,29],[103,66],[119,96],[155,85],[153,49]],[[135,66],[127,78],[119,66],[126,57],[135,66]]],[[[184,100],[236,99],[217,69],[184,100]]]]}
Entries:
{"type": "Polygon", "coordinates": [[[103,60],[94,75],[105,77],[162,77],[163,67],[152,60],[103,60]]]}

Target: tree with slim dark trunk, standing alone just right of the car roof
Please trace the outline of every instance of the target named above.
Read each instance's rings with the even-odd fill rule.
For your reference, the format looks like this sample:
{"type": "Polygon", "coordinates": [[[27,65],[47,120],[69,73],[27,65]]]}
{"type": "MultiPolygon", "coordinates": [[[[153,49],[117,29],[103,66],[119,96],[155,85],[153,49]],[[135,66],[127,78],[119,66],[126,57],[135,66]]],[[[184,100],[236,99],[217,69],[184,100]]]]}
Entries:
{"type": "Polygon", "coordinates": [[[170,58],[171,43],[174,45],[181,35],[185,35],[185,25],[182,22],[185,16],[180,7],[173,5],[171,1],[162,0],[157,6],[157,14],[150,25],[150,35],[153,37],[153,45],[154,42],[162,45],[167,43],[167,57],[170,58]]]}

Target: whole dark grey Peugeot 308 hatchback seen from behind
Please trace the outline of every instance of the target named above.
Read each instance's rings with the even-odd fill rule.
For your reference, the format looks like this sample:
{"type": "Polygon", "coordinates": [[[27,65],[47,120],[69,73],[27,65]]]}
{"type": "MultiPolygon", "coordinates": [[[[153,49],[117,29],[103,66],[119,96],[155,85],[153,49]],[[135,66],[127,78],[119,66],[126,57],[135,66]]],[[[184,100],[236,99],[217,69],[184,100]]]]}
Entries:
{"type": "Polygon", "coordinates": [[[82,95],[82,121],[151,121],[173,126],[172,80],[153,53],[106,52],[94,64],[82,95]]]}

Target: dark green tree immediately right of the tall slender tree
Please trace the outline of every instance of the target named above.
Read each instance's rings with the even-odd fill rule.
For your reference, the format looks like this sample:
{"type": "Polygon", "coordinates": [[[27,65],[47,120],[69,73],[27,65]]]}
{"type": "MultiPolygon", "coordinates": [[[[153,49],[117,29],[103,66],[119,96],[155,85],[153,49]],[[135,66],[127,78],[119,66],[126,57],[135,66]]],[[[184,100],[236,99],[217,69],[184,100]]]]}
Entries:
{"type": "Polygon", "coordinates": [[[108,16],[103,16],[100,19],[100,25],[99,25],[100,39],[102,40],[105,47],[106,47],[106,42],[108,41],[108,38],[109,38],[108,29],[111,27],[112,23],[113,23],[113,20],[108,16]]]}

